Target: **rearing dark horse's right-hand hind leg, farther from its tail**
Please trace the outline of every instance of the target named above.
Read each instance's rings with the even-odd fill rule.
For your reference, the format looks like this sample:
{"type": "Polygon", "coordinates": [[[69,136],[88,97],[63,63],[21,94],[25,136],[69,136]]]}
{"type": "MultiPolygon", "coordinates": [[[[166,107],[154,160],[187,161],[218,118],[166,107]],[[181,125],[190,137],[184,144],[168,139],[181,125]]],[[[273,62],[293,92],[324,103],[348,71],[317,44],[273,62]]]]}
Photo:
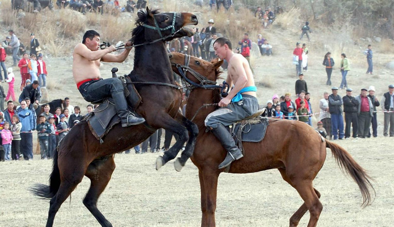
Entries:
{"type": "Polygon", "coordinates": [[[107,187],[114,170],[115,162],[113,161],[113,155],[111,155],[107,157],[107,160],[93,161],[88,166],[85,174],[90,179],[90,188],[83,202],[101,226],[112,226],[99,209],[97,209],[97,199],[99,199],[99,196],[107,187]]]}

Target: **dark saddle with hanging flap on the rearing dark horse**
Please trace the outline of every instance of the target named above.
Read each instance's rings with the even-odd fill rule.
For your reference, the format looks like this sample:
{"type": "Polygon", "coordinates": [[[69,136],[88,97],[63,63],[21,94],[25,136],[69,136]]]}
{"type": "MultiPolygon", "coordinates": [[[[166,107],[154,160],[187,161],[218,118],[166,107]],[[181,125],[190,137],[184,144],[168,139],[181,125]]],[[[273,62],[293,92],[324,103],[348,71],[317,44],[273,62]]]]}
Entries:
{"type": "MultiPolygon", "coordinates": [[[[131,84],[132,89],[127,89],[126,82],[131,82],[129,77],[121,76],[119,78],[123,86],[125,88],[125,96],[126,100],[129,104],[129,110],[132,111],[136,117],[139,116],[134,110],[138,108],[141,104],[141,96],[137,92],[134,87],[134,84],[131,84]],[[130,108],[131,105],[131,108],[130,108]]],[[[117,111],[115,108],[115,104],[112,98],[97,100],[92,102],[92,104],[100,104],[97,106],[89,115],[84,118],[82,121],[87,121],[89,125],[89,129],[94,135],[94,137],[103,143],[103,138],[106,134],[112,129],[113,126],[121,122],[121,118],[117,116],[117,111]]]]}

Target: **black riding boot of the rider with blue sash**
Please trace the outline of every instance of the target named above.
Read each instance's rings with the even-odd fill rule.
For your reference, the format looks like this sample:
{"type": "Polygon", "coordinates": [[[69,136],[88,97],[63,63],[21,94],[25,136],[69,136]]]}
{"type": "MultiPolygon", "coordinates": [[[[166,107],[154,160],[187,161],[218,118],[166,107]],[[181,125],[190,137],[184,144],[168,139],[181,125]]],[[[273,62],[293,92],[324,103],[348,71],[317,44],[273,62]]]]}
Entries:
{"type": "Polygon", "coordinates": [[[221,124],[219,127],[212,129],[212,132],[223,145],[224,149],[227,150],[226,158],[224,158],[224,161],[219,165],[219,169],[227,167],[232,161],[239,160],[244,156],[241,150],[235,145],[234,139],[232,139],[224,125],[221,124]]]}

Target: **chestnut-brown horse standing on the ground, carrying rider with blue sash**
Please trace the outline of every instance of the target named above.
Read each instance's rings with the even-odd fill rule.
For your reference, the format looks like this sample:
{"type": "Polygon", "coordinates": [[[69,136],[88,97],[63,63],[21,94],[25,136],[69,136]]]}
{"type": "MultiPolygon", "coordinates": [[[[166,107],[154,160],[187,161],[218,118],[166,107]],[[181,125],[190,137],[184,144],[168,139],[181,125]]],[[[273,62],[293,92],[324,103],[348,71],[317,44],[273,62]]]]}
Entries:
{"type": "MultiPolygon", "coordinates": [[[[199,83],[190,74],[190,68],[206,80],[215,81],[223,61],[210,63],[199,58],[191,57],[185,61],[185,55],[169,54],[174,72],[179,71],[184,62],[190,62],[186,77],[199,83]]],[[[183,66],[182,66],[183,65],[183,66]]],[[[181,70],[182,71],[182,70],[181,70]]],[[[202,78],[200,77],[200,80],[202,78]]],[[[224,160],[226,151],[211,132],[206,131],[204,120],[216,107],[199,108],[203,104],[220,101],[218,89],[204,89],[195,86],[191,91],[186,106],[186,117],[191,119],[196,112],[193,123],[199,127],[199,135],[195,144],[191,161],[199,168],[201,187],[201,210],[203,213],[201,226],[215,226],[216,190],[218,177],[223,170],[218,169],[224,160]]],[[[298,191],[304,200],[303,205],[290,218],[290,226],[297,226],[306,211],[310,213],[308,226],[316,226],[323,209],[319,201],[320,193],[313,188],[312,181],[322,168],[326,159],[326,148],[330,148],[338,165],[343,168],[358,184],[363,204],[371,202],[370,177],[358,165],[350,154],[339,145],[324,140],[309,125],[290,120],[270,121],[265,138],[260,143],[243,143],[245,156],[231,164],[230,173],[252,173],[267,169],[278,169],[283,179],[298,191]],[[302,141],[302,142],[301,142],[302,141]]],[[[375,190],[373,190],[375,192],[375,190]]]]}

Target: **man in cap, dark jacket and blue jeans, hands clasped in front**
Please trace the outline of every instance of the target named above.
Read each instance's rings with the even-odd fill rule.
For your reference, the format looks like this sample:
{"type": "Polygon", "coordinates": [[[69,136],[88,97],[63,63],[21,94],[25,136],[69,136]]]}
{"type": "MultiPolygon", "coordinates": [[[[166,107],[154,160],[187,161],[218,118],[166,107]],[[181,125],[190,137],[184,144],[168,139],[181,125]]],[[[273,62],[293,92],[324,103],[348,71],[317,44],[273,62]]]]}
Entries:
{"type": "Polygon", "coordinates": [[[343,117],[341,96],[338,95],[338,87],[331,88],[332,94],[328,96],[328,109],[331,113],[331,133],[334,140],[342,140],[343,133],[343,117]]]}

